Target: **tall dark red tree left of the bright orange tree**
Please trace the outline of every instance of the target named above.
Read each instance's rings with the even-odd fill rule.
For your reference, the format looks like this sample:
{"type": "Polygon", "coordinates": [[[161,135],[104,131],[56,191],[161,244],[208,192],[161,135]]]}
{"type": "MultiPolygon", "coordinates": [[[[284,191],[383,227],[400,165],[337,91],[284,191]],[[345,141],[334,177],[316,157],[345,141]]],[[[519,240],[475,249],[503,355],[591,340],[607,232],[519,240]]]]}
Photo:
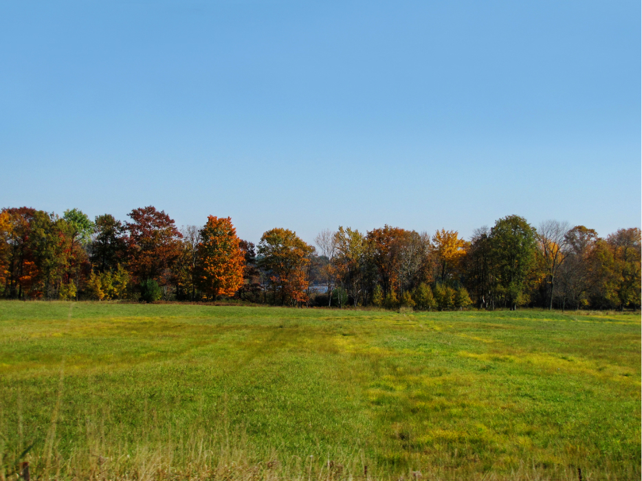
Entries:
{"type": "Polygon", "coordinates": [[[164,211],[153,206],[132,210],[129,232],[129,267],[138,282],[146,279],[167,284],[168,271],[181,254],[181,233],[164,211]]]}

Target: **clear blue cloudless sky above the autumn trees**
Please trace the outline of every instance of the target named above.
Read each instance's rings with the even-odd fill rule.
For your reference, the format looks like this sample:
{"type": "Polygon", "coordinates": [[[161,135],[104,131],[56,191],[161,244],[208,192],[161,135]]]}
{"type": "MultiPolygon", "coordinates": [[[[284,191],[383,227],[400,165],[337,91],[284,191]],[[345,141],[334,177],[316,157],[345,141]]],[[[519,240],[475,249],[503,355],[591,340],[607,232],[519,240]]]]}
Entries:
{"type": "Polygon", "coordinates": [[[258,241],[641,225],[639,1],[0,3],[0,207],[258,241]]]}

